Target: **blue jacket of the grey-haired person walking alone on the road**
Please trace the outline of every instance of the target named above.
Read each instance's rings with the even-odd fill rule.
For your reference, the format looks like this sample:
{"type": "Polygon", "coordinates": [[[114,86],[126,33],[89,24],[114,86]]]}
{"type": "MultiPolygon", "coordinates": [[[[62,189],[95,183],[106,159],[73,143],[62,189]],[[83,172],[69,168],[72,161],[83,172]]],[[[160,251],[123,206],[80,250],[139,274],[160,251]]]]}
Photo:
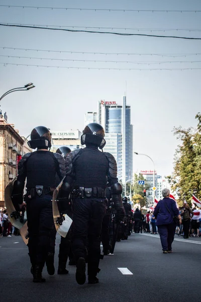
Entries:
{"type": "Polygon", "coordinates": [[[156,225],[169,224],[173,222],[173,216],[178,216],[179,210],[176,207],[176,202],[172,198],[165,197],[157,203],[154,209],[154,216],[156,217],[156,225]],[[169,211],[167,210],[166,206],[169,211]]]}

